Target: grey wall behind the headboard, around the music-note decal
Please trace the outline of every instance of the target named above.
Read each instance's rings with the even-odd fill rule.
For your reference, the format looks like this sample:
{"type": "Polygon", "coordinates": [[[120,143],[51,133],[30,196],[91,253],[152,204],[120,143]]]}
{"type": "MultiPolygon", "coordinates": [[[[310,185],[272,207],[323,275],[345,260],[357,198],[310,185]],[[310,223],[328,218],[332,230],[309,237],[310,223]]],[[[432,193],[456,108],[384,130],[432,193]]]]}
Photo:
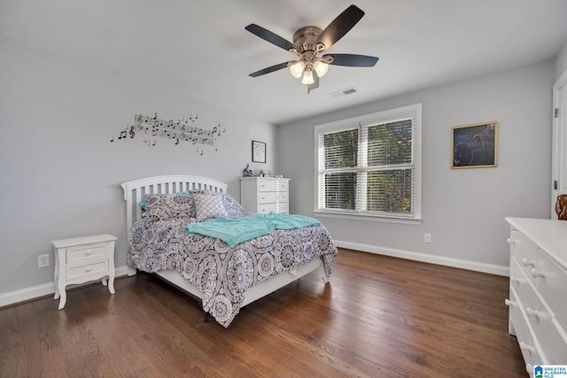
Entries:
{"type": "Polygon", "coordinates": [[[268,143],[268,163],[252,169],[274,170],[274,125],[3,37],[0,57],[0,297],[53,282],[51,240],[116,235],[115,263],[125,266],[123,181],[195,174],[227,182],[229,194],[239,198],[252,139],[268,143]],[[154,112],[166,120],[198,113],[198,127],[221,122],[227,131],[219,150],[206,146],[202,156],[192,144],[163,138],[155,138],[155,147],[144,144],[147,135],[117,140],[135,114],[154,112]],[[44,253],[51,266],[38,269],[44,253]]]}

